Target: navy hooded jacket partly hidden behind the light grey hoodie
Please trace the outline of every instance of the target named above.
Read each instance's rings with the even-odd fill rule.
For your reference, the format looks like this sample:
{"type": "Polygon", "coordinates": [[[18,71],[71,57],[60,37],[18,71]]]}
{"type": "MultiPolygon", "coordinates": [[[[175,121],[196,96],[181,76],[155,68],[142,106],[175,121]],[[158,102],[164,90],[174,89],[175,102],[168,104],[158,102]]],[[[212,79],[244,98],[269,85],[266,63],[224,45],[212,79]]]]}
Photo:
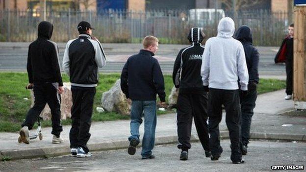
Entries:
{"type": "Polygon", "coordinates": [[[259,63],[259,52],[253,47],[253,38],[250,27],[243,25],[238,28],[235,38],[239,40],[244,49],[248,72],[249,72],[249,84],[255,82],[258,84],[258,63],[259,63]]]}

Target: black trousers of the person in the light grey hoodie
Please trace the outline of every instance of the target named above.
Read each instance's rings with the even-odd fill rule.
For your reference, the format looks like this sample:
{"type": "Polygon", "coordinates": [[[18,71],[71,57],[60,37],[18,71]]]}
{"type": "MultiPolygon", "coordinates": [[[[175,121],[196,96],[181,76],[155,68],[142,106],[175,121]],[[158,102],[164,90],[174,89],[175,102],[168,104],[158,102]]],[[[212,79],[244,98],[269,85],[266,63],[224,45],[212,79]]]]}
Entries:
{"type": "Polygon", "coordinates": [[[209,146],[211,154],[219,155],[220,146],[220,131],[219,123],[222,119],[222,104],[226,111],[226,124],[229,129],[229,138],[231,143],[232,161],[241,160],[240,150],[240,102],[239,90],[222,90],[209,89],[208,95],[208,130],[210,134],[209,146]]]}

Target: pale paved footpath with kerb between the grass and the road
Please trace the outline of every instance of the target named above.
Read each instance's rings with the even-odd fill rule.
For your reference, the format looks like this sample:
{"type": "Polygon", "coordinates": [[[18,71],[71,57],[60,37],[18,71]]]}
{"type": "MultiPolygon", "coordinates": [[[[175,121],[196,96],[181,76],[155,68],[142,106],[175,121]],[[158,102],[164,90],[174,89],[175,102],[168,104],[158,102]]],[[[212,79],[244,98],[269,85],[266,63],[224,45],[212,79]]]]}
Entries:
{"type": "MultiPolygon", "coordinates": [[[[287,116],[283,112],[293,110],[292,100],[284,100],[284,90],[259,95],[256,101],[255,114],[251,127],[251,138],[306,141],[306,114],[287,116]],[[290,124],[285,125],[284,124],[290,124]]],[[[103,114],[101,114],[103,115],[103,114]]],[[[49,157],[64,155],[70,152],[70,126],[63,127],[62,137],[65,143],[51,144],[51,127],[43,127],[43,140],[31,140],[29,145],[19,144],[18,133],[0,133],[0,158],[7,156],[12,159],[49,157]]],[[[225,118],[220,124],[221,136],[228,138],[225,118]]],[[[34,131],[34,130],[32,130],[34,131]]],[[[140,135],[143,136],[143,125],[140,135]]],[[[92,123],[91,138],[88,146],[92,151],[120,149],[128,147],[129,121],[110,121],[92,123]]],[[[177,143],[176,114],[157,117],[156,144],[177,143]]],[[[198,140],[195,127],[192,130],[192,140],[198,140]]]]}

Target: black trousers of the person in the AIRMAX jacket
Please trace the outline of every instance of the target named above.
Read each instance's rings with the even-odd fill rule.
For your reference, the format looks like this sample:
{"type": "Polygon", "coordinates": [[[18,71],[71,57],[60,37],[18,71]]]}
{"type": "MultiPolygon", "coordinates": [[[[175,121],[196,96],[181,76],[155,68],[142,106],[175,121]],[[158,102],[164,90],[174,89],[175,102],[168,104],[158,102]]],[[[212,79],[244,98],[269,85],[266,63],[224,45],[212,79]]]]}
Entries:
{"type": "Polygon", "coordinates": [[[209,151],[209,135],[207,121],[207,93],[178,94],[178,148],[183,151],[190,149],[192,117],[196,125],[199,139],[204,150],[209,151]]]}

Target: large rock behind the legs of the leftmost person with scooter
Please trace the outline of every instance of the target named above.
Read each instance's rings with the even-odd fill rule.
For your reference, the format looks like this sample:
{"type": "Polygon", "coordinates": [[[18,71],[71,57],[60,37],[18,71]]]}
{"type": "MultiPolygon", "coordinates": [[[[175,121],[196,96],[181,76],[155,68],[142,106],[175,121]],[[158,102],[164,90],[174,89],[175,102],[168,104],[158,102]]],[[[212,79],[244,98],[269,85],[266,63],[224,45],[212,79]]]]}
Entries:
{"type": "MultiPolygon", "coordinates": [[[[72,93],[71,93],[70,82],[65,82],[63,84],[64,84],[64,93],[61,94],[61,119],[66,120],[67,118],[71,117],[72,93]]],[[[32,104],[31,104],[32,107],[34,105],[34,96],[32,90],[31,90],[31,98],[32,98],[32,104]]],[[[48,103],[46,104],[44,110],[41,112],[40,117],[42,117],[43,120],[51,120],[51,110],[48,103]]]]}

